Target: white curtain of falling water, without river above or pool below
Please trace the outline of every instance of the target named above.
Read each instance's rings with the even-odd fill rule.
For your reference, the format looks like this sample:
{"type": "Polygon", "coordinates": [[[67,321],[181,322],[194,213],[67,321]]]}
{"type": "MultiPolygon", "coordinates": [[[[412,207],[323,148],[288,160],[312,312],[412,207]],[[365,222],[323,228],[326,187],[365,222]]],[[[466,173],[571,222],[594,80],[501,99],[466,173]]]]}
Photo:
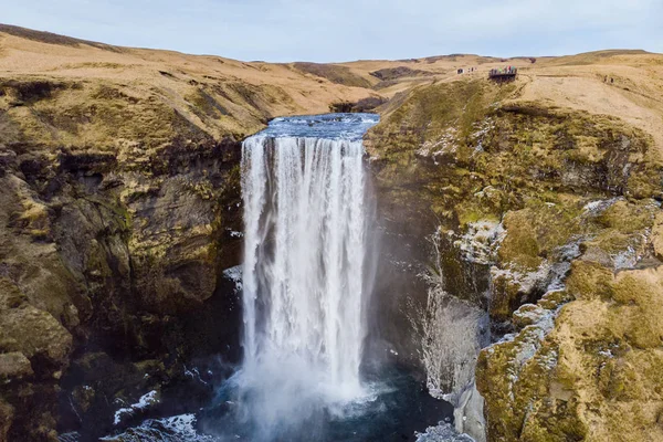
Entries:
{"type": "Polygon", "coordinates": [[[256,135],[242,151],[242,385],[273,432],[361,397],[367,210],[361,140],[256,135]]]}

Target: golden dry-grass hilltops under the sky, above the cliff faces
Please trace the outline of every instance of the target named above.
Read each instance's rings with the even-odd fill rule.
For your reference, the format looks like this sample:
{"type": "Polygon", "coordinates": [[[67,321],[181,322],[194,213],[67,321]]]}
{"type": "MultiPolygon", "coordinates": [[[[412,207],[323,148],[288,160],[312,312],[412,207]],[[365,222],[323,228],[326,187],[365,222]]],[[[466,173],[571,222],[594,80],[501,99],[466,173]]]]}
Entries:
{"type": "Polygon", "coordinates": [[[504,65],[520,70],[514,99],[618,116],[663,144],[663,55],[643,51],[538,60],[459,54],[271,64],[119,48],[0,25],[0,62],[1,106],[8,115],[15,115],[12,119],[20,122],[25,137],[40,144],[118,144],[118,138],[148,133],[133,127],[134,123],[167,135],[168,127],[156,122],[127,118],[128,133],[118,137],[108,126],[115,125],[118,109],[128,104],[140,109],[136,114],[151,114],[164,122],[178,119],[215,139],[241,138],[275,116],[325,113],[334,103],[367,97],[386,101],[431,83],[482,78],[504,65]],[[475,71],[456,74],[457,69],[470,67],[475,71]],[[21,103],[25,106],[18,106],[21,103]],[[25,113],[33,106],[43,110],[42,117],[25,113]],[[50,135],[40,128],[48,128],[50,135]],[[109,136],[115,140],[105,139],[109,136]]]}

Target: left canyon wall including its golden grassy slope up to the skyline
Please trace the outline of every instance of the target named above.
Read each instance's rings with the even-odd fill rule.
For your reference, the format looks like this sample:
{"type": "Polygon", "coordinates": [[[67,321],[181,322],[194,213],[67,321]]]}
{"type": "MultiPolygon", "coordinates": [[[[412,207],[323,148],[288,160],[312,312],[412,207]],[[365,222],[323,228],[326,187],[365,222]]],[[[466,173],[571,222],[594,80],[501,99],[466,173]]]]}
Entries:
{"type": "Polygon", "coordinates": [[[241,355],[241,140],[372,93],[9,25],[0,62],[0,440],[197,409],[241,355]]]}

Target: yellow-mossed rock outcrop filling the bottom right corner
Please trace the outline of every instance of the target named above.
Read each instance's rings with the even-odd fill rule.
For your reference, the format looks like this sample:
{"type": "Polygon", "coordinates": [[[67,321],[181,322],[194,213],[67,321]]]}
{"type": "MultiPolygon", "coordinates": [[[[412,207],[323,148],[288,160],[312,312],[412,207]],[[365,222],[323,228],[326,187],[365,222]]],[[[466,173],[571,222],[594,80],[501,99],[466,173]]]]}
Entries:
{"type": "MultiPolygon", "coordinates": [[[[482,352],[488,434],[502,440],[660,440],[661,267],[573,264],[559,306],[482,352]],[[507,373],[507,376],[504,376],[507,373]],[[638,422],[638,425],[633,423],[638,422]]],[[[523,307],[522,307],[523,308],[523,307]]]]}

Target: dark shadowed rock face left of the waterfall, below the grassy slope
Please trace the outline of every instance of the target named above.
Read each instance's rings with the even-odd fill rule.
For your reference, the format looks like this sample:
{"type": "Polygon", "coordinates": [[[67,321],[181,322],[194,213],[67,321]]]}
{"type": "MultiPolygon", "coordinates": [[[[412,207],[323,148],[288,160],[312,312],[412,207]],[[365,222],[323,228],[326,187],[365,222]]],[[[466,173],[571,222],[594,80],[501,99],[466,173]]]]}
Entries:
{"type": "MultiPolygon", "coordinates": [[[[30,93],[21,106],[70,86],[30,93]]],[[[66,130],[63,115],[52,114],[55,134],[66,130]]],[[[3,133],[15,134],[0,144],[0,434],[93,438],[123,401],[186,382],[196,357],[239,356],[241,313],[223,271],[241,246],[240,143],[180,119],[167,123],[171,134],[107,139],[118,148],[54,149],[31,143],[30,119],[17,116],[0,109],[3,133]]]]}

